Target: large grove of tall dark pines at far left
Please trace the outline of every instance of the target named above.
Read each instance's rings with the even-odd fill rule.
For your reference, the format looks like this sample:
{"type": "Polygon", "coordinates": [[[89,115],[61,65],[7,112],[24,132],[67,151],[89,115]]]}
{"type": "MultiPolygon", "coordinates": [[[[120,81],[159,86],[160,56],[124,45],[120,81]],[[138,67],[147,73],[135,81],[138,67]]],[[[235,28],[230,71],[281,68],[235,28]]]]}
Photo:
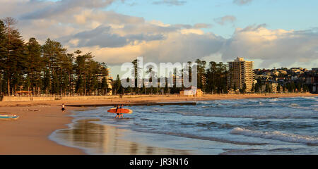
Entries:
{"type": "Polygon", "coordinates": [[[52,39],[39,44],[34,37],[25,42],[14,27],[14,18],[0,20],[1,95],[29,94],[105,95],[107,64],[93,60],[93,54],[67,49],[52,39]]]}

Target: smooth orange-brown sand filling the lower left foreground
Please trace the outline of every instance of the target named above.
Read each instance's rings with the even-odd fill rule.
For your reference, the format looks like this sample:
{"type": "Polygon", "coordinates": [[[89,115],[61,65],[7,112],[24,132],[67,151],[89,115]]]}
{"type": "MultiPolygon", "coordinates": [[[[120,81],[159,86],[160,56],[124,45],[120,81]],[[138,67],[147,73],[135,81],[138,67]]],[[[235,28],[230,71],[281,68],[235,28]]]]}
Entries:
{"type": "Polygon", "coordinates": [[[1,155],[84,155],[81,149],[62,146],[49,139],[55,130],[67,128],[71,110],[60,106],[0,107],[1,113],[19,115],[18,120],[0,120],[1,155]],[[37,110],[37,111],[35,111],[37,110]]]}

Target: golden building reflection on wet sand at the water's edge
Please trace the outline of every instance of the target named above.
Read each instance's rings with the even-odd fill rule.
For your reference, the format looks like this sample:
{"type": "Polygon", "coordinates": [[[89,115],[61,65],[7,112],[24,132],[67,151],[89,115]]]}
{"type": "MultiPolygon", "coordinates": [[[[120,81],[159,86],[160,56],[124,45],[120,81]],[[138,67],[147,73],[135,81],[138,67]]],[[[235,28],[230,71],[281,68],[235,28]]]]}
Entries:
{"type": "Polygon", "coordinates": [[[89,154],[157,155],[189,154],[184,150],[146,146],[122,139],[130,130],[90,123],[99,120],[78,120],[73,129],[57,131],[57,137],[67,146],[88,150],[89,154]]]}

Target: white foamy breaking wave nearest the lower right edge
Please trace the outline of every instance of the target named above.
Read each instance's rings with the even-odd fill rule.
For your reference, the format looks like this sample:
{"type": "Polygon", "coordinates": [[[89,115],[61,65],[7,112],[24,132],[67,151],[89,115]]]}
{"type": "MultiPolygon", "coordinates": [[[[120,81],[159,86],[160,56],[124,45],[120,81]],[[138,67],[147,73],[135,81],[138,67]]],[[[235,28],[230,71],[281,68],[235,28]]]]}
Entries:
{"type": "Polygon", "coordinates": [[[240,127],[234,128],[231,134],[241,134],[249,137],[260,137],[264,139],[276,139],[283,142],[296,142],[296,143],[304,143],[310,144],[313,146],[318,145],[318,137],[312,136],[302,136],[298,134],[284,134],[282,132],[274,131],[274,132],[262,132],[257,130],[247,130],[240,127]]]}

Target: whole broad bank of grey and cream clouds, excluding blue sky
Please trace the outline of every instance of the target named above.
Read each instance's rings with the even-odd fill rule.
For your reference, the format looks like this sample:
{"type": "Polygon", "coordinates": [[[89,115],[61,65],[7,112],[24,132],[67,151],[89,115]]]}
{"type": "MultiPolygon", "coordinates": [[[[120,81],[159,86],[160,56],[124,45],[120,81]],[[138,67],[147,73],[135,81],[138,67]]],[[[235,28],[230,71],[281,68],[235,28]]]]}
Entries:
{"type": "MultiPolygon", "coordinates": [[[[16,27],[25,39],[36,37],[43,44],[51,38],[69,52],[91,51],[97,61],[109,65],[131,62],[138,56],[152,62],[184,62],[211,56],[230,61],[240,56],[263,61],[264,68],[275,63],[284,67],[293,63],[317,66],[317,29],[271,30],[266,25],[250,25],[237,28],[230,38],[224,38],[204,32],[202,29],[212,27],[207,23],[166,24],[100,8],[114,1],[81,0],[71,4],[69,10],[58,8],[67,3],[74,1],[0,1],[0,15],[18,18],[16,27]]],[[[235,20],[233,15],[215,19],[220,25],[235,20]]]]}

